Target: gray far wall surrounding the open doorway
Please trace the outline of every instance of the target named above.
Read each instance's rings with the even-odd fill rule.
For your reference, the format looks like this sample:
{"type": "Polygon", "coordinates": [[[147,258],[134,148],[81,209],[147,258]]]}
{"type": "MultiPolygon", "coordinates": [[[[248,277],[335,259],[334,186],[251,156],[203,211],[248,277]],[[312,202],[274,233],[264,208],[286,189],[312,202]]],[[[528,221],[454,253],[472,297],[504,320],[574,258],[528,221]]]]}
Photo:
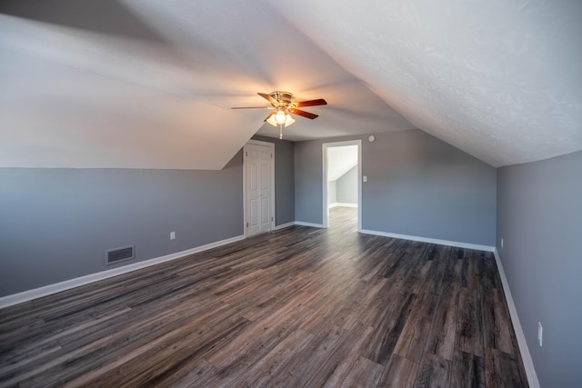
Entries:
{"type": "Polygon", "coordinates": [[[362,140],[363,229],[494,245],[497,170],[420,130],[296,143],[296,220],[322,224],[322,144],[362,140]]]}

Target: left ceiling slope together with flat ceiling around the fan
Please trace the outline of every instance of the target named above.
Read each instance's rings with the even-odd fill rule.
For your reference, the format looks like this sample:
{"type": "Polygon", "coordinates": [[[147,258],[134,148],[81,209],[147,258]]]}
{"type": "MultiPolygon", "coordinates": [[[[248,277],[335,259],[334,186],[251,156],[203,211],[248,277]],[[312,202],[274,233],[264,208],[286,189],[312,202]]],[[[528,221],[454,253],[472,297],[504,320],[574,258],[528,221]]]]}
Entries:
{"type": "Polygon", "coordinates": [[[414,127],[268,2],[4,1],[0,56],[4,167],[220,169],[274,90],[329,103],[287,140],[414,127]]]}

